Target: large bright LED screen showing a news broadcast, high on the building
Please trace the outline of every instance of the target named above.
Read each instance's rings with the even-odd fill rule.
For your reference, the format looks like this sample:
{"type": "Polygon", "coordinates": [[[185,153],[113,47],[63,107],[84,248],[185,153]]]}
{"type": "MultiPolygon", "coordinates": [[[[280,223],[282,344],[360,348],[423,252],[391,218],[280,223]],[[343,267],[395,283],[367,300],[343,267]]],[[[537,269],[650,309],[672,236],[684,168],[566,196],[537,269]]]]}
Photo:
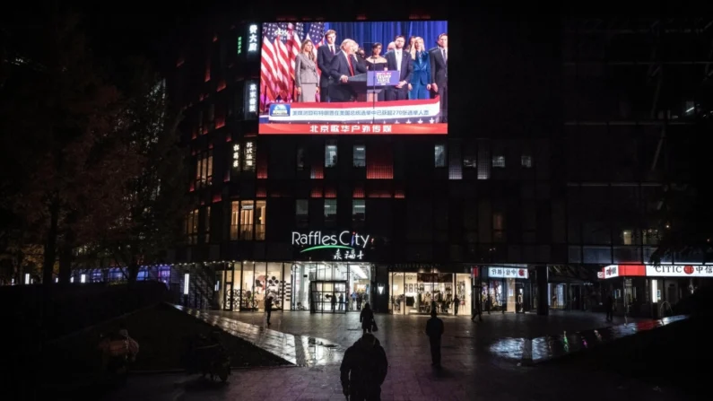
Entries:
{"type": "Polygon", "coordinates": [[[448,134],[448,22],[267,22],[259,134],[448,134]]]}

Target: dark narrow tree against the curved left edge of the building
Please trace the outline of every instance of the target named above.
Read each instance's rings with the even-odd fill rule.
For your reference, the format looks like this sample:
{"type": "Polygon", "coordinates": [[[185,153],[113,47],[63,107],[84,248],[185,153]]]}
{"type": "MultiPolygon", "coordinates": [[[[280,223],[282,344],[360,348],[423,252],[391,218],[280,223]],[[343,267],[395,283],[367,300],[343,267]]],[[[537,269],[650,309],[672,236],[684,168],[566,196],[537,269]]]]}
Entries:
{"type": "Polygon", "coordinates": [[[127,85],[123,136],[141,158],[128,181],[123,218],[102,231],[100,247],[126,266],[134,282],[142,264],[159,263],[178,240],[185,210],[184,154],[178,142],[181,114],[170,108],[166,86],[142,59],[128,61],[136,74],[127,85]]]}

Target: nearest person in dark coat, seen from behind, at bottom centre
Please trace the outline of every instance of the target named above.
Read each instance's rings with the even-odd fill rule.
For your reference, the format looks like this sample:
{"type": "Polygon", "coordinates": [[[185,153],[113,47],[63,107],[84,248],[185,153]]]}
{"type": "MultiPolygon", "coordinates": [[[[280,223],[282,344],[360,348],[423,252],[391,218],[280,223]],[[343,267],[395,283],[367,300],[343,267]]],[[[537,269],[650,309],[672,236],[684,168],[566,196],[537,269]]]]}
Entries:
{"type": "Polygon", "coordinates": [[[377,337],[367,333],[347,348],[339,370],[343,394],[350,401],[381,400],[388,361],[377,337]]]}

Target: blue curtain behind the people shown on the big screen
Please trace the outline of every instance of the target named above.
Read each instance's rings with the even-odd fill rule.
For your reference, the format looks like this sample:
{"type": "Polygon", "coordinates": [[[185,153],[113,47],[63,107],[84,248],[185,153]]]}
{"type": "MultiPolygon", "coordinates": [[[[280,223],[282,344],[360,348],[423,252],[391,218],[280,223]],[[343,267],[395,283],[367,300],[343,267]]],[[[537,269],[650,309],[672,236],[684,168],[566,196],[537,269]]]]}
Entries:
{"type": "MultiPolygon", "coordinates": [[[[406,44],[412,36],[423,38],[426,48],[436,46],[441,33],[448,33],[448,22],[445,21],[406,21],[406,22],[326,22],[325,30],[336,31],[336,42],[343,39],[354,39],[363,47],[364,43],[381,43],[387,52],[387,45],[396,35],[404,35],[406,44]]],[[[365,49],[370,54],[370,49],[365,49]]]]}

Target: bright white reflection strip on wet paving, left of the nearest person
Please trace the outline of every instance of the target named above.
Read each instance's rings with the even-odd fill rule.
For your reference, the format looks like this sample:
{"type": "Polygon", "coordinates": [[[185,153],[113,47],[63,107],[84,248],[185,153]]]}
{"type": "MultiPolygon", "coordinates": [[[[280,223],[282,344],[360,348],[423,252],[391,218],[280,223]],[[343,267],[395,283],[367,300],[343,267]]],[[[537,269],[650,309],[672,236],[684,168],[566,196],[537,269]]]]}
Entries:
{"type": "Polygon", "coordinates": [[[213,315],[199,309],[190,309],[179,305],[174,305],[174,307],[297,366],[335,365],[341,363],[344,356],[345,349],[342,346],[324,338],[295,336],[213,315]]]}

